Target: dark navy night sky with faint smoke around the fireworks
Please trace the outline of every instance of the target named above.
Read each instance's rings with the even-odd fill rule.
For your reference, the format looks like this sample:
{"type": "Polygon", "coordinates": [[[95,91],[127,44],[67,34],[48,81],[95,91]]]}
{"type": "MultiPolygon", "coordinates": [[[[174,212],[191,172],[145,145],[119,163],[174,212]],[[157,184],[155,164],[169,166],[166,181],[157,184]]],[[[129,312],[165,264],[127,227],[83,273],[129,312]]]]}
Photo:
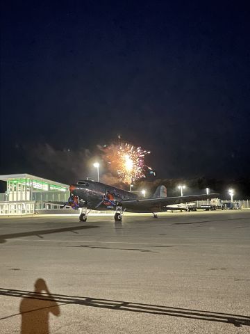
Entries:
{"type": "Polygon", "coordinates": [[[121,134],[158,177],[249,177],[247,1],[4,2],[0,174],[75,181],[121,134]]]}

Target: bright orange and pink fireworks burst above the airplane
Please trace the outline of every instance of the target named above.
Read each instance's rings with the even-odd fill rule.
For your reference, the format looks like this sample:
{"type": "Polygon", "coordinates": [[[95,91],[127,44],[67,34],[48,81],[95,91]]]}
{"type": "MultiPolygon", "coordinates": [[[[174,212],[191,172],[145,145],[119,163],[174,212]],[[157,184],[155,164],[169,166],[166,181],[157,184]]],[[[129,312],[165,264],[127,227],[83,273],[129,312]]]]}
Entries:
{"type": "Polygon", "coordinates": [[[136,148],[128,143],[110,145],[106,148],[110,171],[129,184],[134,180],[146,177],[146,171],[152,169],[144,163],[144,157],[149,153],[149,151],[142,150],[140,147],[136,148]]]}

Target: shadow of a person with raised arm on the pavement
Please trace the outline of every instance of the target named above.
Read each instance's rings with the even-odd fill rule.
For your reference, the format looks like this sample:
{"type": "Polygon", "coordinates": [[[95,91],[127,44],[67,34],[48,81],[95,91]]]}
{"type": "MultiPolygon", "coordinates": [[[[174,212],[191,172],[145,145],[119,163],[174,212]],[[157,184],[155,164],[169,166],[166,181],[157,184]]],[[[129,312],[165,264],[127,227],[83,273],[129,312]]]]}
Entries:
{"type": "Polygon", "coordinates": [[[49,334],[49,314],[58,317],[60,308],[42,278],[35,281],[35,291],[20,303],[21,334],[49,334]],[[43,299],[40,299],[41,293],[43,299]],[[32,298],[31,298],[32,297],[32,298]]]}

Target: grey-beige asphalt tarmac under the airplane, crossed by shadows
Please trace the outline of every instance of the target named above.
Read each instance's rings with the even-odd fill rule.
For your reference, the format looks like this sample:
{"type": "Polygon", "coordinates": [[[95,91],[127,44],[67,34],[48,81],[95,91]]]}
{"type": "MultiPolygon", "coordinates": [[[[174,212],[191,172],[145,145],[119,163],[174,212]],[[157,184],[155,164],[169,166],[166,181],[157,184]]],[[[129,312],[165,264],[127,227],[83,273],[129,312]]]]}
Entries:
{"type": "Polygon", "coordinates": [[[0,218],[0,333],[250,333],[249,241],[250,210],[0,218]]]}

